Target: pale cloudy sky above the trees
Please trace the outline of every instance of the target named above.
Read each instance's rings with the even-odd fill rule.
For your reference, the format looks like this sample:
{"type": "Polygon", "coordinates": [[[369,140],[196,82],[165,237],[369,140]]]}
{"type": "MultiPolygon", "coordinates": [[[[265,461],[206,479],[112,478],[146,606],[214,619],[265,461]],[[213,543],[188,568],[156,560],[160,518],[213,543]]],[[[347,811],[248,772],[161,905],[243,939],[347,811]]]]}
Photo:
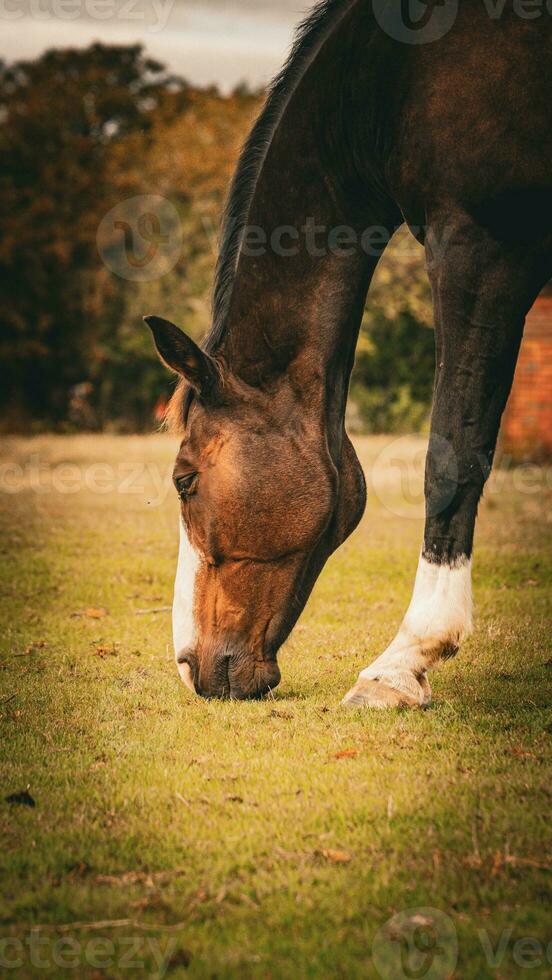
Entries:
{"type": "Polygon", "coordinates": [[[314,0],[0,0],[0,58],[141,41],[198,85],[265,84],[314,0]]]}

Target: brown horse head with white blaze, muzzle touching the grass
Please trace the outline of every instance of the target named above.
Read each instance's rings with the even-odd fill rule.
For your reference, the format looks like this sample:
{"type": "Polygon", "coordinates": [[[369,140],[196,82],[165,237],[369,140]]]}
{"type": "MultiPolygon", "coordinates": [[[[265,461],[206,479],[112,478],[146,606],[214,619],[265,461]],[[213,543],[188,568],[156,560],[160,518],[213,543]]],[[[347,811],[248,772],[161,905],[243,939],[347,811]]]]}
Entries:
{"type": "Polygon", "coordinates": [[[182,434],[179,671],[205,697],[258,697],[279,683],[278,649],[360,518],[362,473],[344,432],[332,457],[322,403],[305,400],[289,373],[252,387],[173,324],[146,322],[180,375],[170,408],[182,434]]]}

